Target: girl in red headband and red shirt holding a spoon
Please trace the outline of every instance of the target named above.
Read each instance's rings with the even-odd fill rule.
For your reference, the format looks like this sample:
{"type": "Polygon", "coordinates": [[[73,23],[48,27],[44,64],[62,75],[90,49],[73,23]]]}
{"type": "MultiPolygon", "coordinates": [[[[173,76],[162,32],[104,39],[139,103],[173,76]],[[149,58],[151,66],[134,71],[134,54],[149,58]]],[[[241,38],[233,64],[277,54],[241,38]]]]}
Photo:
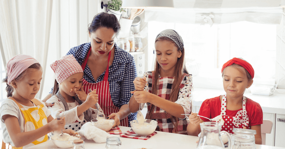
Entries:
{"type": "MultiPolygon", "coordinates": [[[[210,119],[221,115],[225,121],[222,130],[231,134],[232,128],[256,130],[255,143],[261,144],[262,109],[257,102],[243,96],[245,89],[253,83],[254,70],[251,64],[243,59],[233,58],[223,65],[222,77],[226,93],[206,99],[201,105],[199,115],[210,119]]],[[[197,136],[201,131],[200,123],[209,120],[198,117],[197,113],[191,113],[189,121],[188,134],[197,136]]]]}

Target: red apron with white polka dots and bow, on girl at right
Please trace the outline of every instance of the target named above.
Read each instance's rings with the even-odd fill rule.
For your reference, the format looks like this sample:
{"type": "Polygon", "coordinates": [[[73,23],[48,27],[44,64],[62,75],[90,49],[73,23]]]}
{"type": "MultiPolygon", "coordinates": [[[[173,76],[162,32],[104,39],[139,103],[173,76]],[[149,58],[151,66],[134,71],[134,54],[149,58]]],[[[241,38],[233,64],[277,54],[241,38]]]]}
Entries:
{"type": "Polygon", "coordinates": [[[249,129],[249,117],[247,116],[247,111],[245,110],[246,97],[243,96],[243,109],[241,111],[238,111],[237,115],[233,117],[226,115],[226,95],[227,94],[223,95],[221,102],[221,115],[225,121],[224,125],[222,126],[222,130],[225,130],[232,134],[233,128],[243,128],[245,126],[247,129],[249,129]]]}

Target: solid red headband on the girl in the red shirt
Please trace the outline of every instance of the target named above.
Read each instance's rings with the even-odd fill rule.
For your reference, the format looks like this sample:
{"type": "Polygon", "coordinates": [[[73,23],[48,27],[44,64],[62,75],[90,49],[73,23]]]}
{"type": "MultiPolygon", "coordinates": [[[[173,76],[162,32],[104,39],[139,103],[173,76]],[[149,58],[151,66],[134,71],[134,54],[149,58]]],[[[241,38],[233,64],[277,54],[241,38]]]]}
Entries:
{"type": "Polygon", "coordinates": [[[222,73],[223,73],[223,70],[227,67],[227,66],[230,66],[232,64],[238,64],[238,65],[241,65],[243,66],[243,68],[245,68],[249,74],[251,75],[251,78],[253,79],[254,77],[254,70],[251,66],[251,64],[249,64],[248,62],[246,62],[245,60],[242,60],[242,59],[239,59],[239,58],[233,58],[229,61],[227,61],[223,67],[222,67],[222,73]]]}

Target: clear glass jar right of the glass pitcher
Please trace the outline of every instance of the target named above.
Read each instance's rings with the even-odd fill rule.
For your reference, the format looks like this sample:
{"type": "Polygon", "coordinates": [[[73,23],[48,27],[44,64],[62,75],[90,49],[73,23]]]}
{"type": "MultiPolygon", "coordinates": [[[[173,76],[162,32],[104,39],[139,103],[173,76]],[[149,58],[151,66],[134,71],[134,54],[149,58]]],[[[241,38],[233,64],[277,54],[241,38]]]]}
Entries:
{"type": "Polygon", "coordinates": [[[256,149],[255,134],[256,130],[233,128],[231,149],[256,149]]]}

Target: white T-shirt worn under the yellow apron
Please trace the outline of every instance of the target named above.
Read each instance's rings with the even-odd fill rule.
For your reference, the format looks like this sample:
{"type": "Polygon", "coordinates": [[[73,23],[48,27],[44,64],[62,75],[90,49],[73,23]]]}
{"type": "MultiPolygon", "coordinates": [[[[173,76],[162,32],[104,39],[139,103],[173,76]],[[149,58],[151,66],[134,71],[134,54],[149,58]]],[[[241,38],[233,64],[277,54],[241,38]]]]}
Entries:
{"type": "MultiPolygon", "coordinates": [[[[43,105],[45,105],[40,99],[38,99],[38,101],[40,101],[43,105]]],[[[33,107],[27,107],[27,106],[24,106],[24,105],[22,105],[22,106],[25,107],[25,108],[34,108],[34,107],[36,107],[35,105],[33,107]]],[[[48,110],[48,108],[46,106],[44,106],[42,108],[42,110],[44,111],[44,114],[46,115],[46,117],[50,116],[50,111],[48,110]]],[[[21,111],[20,111],[18,105],[13,100],[5,99],[5,101],[3,101],[3,103],[1,104],[1,107],[0,107],[1,128],[3,130],[3,141],[5,143],[10,143],[12,146],[14,146],[14,144],[13,144],[13,142],[12,142],[12,140],[11,140],[9,134],[8,134],[6,125],[4,123],[3,115],[13,115],[13,116],[17,117],[21,132],[25,131],[25,118],[21,114],[21,111]]],[[[26,146],[23,147],[23,149],[27,148],[27,147],[28,146],[26,145],[26,146]]]]}

